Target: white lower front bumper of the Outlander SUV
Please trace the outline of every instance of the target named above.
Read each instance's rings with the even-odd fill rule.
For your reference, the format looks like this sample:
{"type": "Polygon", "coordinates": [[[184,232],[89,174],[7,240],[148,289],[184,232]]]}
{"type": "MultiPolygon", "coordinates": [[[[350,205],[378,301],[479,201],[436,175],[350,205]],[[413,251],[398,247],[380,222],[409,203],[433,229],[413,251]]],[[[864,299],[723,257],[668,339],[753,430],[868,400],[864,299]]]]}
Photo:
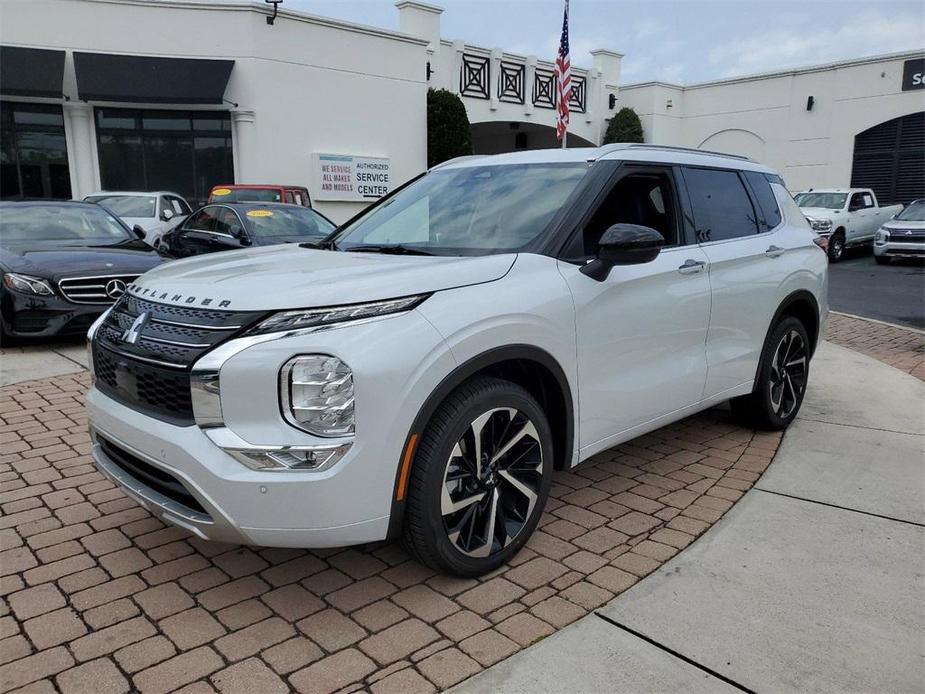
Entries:
{"type": "Polygon", "coordinates": [[[96,388],[87,394],[93,459],[100,472],[152,514],[205,539],[272,547],[338,547],[385,539],[388,515],[343,508],[355,497],[353,451],[325,473],[250,470],[198,427],[158,422],[96,388]],[[198,502],[178,501],[120,465],[116,447],[179,481],[198,502]]]}

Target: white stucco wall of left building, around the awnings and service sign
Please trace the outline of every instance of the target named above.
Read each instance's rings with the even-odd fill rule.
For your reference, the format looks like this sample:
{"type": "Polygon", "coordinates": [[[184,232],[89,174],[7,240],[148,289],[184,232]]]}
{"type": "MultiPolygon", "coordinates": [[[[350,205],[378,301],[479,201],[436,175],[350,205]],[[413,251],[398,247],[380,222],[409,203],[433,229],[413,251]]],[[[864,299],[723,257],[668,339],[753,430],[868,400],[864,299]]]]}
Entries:
{"type": "MultiPolygon", "coordinates": [[[[234,60],[225,97],[238,106],[215,108],[232,112],[239,183],[301,184],[314,195],[313,152],[388,157],[394,185],[424,170],[424,40],[285,10],[274,26],[268,26],[265,16],[262,3],[4,2],[0,43],[66,49],[64,91],[71,97],[72,105],[66,108],[70,113],[87,108],[77,100],[74,50],[234,60]]],[[[90,104],[94,105],[101,104],[90,104]]],[[[69,116],[69,134],[72,120],[69,116]]],[[[99,187],[95,128],[91,138],[83,147],[69,137],[75,195],[99,187]],[[74,161],[88,154],[95,177],[89,182],[78,180],[81,162],[74,161]]],[[[348,218],[362,206],[317,203],[335,220],[348,218]]]]}

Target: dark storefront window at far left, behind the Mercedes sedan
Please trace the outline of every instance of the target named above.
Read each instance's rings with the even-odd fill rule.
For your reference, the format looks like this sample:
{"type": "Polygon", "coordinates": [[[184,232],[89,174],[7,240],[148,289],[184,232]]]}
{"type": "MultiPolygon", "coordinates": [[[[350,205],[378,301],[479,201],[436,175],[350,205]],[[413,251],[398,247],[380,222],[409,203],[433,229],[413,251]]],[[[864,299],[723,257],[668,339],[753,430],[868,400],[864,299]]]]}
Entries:
{"type": "Polygon", "coordinates": [[[0,102],[0,198],[71,197],[60,106],[0,102]]]}

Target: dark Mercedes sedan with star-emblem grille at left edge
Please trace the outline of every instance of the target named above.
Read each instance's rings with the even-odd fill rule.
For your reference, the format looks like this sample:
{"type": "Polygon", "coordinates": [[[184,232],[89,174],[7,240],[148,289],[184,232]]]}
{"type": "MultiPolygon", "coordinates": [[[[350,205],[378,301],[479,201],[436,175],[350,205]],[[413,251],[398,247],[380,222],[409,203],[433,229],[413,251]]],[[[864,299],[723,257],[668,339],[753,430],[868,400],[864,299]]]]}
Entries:
{"type": "Polygon", "coordinates": [[[0,202],[2,337],[86,334],[157,252],[98,205],[0,202]]]}

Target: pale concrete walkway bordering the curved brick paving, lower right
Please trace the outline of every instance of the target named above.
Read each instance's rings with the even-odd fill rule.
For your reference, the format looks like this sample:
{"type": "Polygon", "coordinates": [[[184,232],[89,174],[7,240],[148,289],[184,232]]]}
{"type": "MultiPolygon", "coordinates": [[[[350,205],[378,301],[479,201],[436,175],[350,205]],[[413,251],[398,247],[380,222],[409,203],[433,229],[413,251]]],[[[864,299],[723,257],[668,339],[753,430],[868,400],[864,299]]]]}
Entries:
{"type": "Polygon", "coordinates": [[[925,691],[925,383],[823,343],[756,487],[456,692],[925,691]]]}

